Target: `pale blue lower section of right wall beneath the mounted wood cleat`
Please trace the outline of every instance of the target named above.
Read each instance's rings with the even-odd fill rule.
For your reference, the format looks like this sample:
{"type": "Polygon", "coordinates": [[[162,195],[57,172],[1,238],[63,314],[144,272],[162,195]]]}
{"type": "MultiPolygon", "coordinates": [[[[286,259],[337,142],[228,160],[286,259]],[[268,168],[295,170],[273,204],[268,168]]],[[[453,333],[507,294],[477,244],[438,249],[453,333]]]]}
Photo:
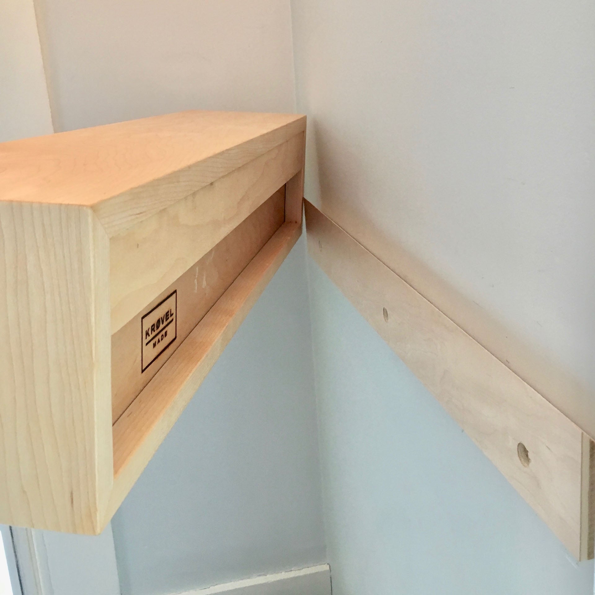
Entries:
{"type": "Polygon", "coordinates": [[[590,595],[549,528],[309,262],[333,595],[590,595]]]}

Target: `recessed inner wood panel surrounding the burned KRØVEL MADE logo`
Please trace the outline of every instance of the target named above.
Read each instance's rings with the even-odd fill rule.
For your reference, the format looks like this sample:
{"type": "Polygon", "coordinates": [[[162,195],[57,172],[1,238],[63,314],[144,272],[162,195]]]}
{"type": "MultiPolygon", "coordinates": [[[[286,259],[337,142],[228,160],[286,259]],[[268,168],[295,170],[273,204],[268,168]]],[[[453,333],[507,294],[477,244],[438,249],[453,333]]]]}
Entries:
{"type": "Polygon", "coordinates": [[[198,262],[159,293],[139,314],[112,335],[112,419],[115,422],[159,371],[190,331],[223,295],[284,220],[281,187],[198,262]],[[177,291],[177,338],[144,372],[140,359],[140,319],[177,291]]]}

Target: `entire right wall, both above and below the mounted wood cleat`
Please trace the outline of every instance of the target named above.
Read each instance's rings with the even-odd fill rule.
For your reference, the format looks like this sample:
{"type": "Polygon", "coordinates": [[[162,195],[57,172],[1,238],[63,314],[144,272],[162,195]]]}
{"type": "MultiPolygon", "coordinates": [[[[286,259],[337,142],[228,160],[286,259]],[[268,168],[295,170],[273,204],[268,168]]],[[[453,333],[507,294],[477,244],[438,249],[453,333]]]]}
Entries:
{"type": "MultiPolygon", "coordinates": [[[[292,15],[306,198],[595,435],[595,5],[300,0],[292,15]]],[[[334,592],[592,593],[593,564],[572,564],[321,275],[334,592]]]]}

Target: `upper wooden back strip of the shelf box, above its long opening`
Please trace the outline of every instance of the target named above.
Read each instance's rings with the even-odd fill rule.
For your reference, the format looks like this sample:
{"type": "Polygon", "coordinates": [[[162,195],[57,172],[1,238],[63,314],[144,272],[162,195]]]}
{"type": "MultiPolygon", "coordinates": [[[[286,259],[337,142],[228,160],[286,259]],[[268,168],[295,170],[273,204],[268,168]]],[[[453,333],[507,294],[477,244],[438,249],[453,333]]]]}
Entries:
{"type": "Polygon", "coordinates": [[[294,176],[303,134],[111,237],[112,333],[294,176]]]}

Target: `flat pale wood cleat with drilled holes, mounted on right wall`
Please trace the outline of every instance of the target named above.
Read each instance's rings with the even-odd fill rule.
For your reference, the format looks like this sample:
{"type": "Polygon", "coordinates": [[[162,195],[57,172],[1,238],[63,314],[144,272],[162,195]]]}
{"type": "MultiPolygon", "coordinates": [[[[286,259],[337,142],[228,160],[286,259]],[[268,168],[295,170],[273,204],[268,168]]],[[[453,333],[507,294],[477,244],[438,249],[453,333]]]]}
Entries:
{"type": "Polygon", "coordinates": [[[312,258],[569,552],[592,557],[591,440],[346,231],[305,204],[312,258]],[[525,464],[519,444],[528,452],[525,464]]]}

